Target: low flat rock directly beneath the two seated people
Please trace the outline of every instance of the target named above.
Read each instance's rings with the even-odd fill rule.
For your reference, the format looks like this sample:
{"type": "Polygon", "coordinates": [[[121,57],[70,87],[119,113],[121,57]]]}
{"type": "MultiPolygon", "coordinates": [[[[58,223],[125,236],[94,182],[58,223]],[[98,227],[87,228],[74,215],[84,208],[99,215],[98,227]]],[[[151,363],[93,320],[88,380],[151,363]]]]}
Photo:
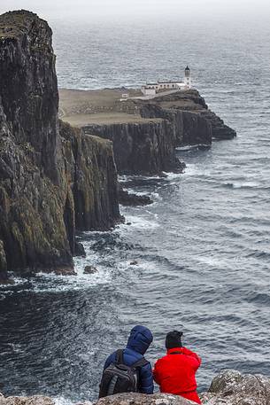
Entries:
{"type": "Polygon", "coordinates": [[[96,405],[190,405],[191,403],[195,402],[168,393],[154,393],[153,395],[119,393],[101,398],[96,405]]]}

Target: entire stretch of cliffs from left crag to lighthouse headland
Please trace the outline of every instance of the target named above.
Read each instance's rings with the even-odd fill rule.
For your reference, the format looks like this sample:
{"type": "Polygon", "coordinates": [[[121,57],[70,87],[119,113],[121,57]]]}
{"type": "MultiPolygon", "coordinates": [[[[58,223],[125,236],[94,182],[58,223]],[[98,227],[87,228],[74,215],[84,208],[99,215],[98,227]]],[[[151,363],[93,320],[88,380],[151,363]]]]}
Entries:
{"type": "Polygon", "coordinates": [[[75,274],[76,231],[110,230],[123,221],[120,204],[151,202],[123,190],[118,174],[181,173],[177,146],[235,136],[197,90],[124,102],[122,89],[60,90],[60,121],[51,39],[32,12],[0,16],[3,283],[10,270],[75,274]]]}

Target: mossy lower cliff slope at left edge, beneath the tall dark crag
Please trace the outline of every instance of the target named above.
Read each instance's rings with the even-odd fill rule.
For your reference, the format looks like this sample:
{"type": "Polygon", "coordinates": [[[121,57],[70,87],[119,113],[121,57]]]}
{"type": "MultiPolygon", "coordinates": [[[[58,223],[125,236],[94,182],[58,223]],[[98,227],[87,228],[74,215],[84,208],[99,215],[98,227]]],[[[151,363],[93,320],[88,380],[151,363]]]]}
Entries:
{"type": "Polygon", "coordinates": [[[66,187],[43,175],[35,149],[17,143],[3,110],[0,105],[0,274],[1,269],[71,267],[63,221],[66,187]]]}

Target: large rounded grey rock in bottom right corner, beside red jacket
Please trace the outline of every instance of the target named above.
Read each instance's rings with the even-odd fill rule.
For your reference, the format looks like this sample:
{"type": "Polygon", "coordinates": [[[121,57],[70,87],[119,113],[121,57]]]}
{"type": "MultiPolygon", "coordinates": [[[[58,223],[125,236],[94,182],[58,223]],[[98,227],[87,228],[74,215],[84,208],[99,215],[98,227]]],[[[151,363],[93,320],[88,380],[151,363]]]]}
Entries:
{"type": "Polygon", "coordinates": [[[235,370],[222,371],[213,378],[202,401],[208,405],[269,405],[270,378],[235,370]]]}

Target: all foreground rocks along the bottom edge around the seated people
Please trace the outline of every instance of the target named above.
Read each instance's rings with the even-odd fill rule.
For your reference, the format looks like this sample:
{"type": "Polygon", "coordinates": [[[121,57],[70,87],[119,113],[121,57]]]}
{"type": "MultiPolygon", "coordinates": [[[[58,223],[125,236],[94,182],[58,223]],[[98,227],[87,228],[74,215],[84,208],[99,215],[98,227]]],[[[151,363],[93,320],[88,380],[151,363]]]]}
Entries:
{"type": "MultiPolygon", "coordinates": [[[[262,375],[241,374],[235,370],[221,371],[213,378],[207,393],[200,394],[203,405],[269,405],[270,378],[262,375]]],[[[0,393],[0,405],[55,405],[55,401],[46,396],[11,396],[4,398],[0,393]]],[[[169,393],[120,393],[97,401],[98,405],[189,405],[195,404],[180,396],[169,393]]],[[[77,405],[91,405],[82,401],[77,405]]]]}

